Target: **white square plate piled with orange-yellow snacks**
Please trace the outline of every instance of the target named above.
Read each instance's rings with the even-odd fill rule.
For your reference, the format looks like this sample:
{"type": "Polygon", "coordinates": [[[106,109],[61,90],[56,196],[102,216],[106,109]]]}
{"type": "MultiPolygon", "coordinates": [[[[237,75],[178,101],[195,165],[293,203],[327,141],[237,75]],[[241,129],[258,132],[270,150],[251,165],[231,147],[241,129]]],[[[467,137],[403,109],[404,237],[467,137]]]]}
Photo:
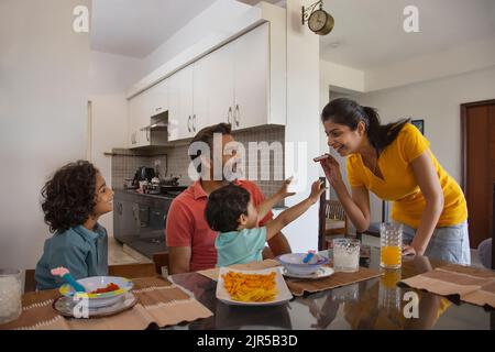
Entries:
{"type": "Polygon", "coordinates": [[[220,267],[217,298],[227,305],[275,306],[290,300],[293,295],[277,267],[260,271],[220,267]]]}

